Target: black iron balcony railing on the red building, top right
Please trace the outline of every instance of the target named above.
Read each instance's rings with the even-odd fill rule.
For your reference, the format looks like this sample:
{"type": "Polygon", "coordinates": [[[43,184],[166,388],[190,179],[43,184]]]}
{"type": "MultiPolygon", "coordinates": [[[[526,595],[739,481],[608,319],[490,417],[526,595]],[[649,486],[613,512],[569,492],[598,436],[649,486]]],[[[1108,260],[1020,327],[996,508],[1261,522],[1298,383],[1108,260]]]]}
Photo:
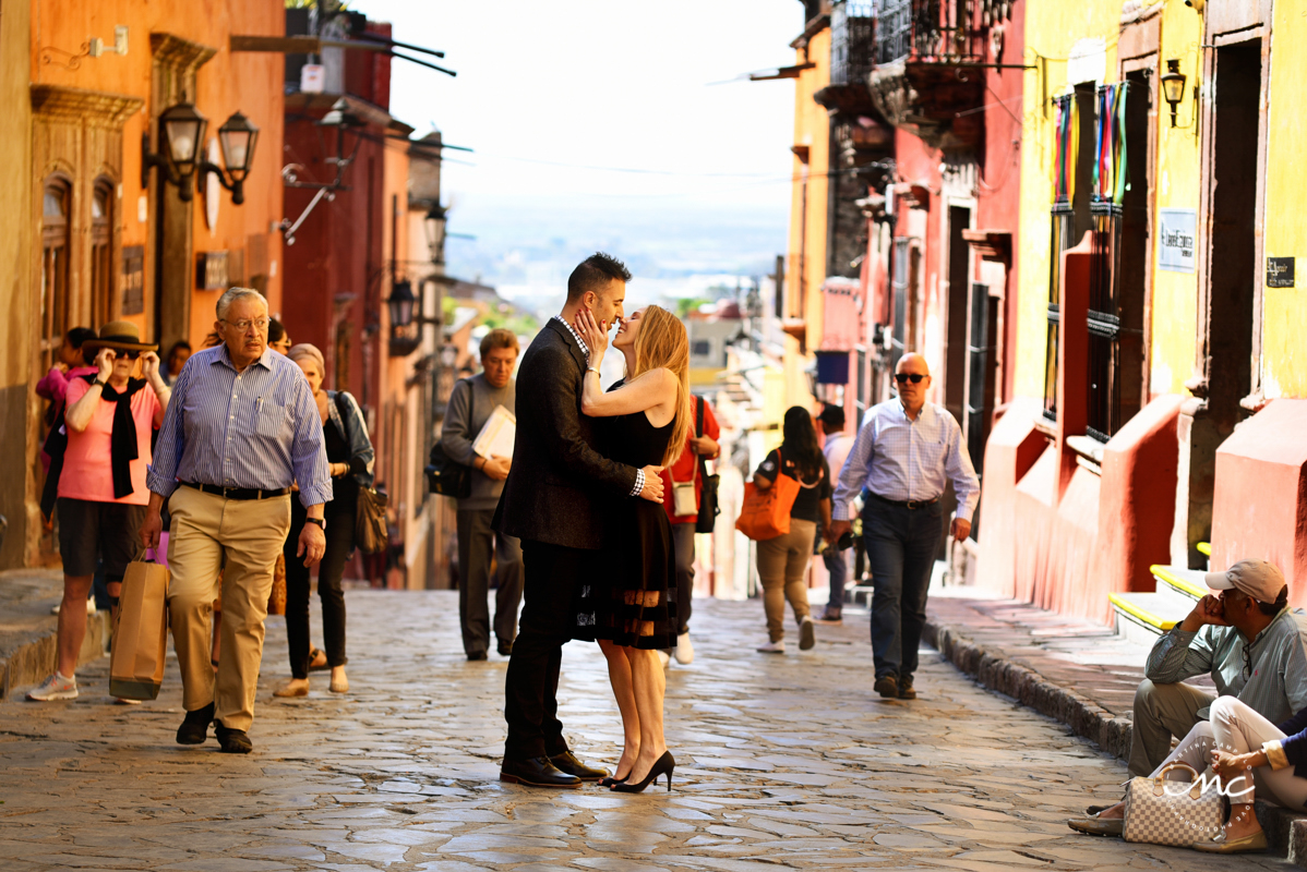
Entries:
{"type": "Polygon", "coordinates": [[[984,60],[979,7],[980,0],[881,0],[876,63],[906,57],[945,64],[984,60]]]}

